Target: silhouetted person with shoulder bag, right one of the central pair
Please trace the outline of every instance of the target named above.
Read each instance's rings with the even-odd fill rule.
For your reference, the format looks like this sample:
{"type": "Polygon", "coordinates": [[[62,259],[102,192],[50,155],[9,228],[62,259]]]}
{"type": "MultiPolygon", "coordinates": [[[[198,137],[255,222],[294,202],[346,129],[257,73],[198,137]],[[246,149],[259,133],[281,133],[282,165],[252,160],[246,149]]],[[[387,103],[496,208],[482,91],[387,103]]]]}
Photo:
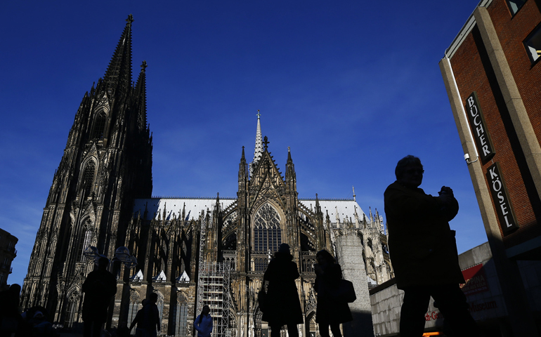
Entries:
{"type": "Polygon", "coordinates": [[[341,337],[340,324],[353,320],[349,305],[334,298],[330,291],[338,289],[342,278],[342,269],[335,263],[332,255],[325,249],[315,254],[318,263],[314,265],[314,289],[318,293],[318,306],[315,310],[315,322],[318,322],[322,337],[341,337]]]}

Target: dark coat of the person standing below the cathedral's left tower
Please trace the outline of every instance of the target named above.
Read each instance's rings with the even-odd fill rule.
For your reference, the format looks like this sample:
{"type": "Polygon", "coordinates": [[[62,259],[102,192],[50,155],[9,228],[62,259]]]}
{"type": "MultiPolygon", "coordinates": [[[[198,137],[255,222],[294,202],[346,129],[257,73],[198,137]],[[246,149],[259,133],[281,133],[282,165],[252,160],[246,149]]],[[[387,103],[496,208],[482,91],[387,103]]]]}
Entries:
{"type": "Polygon", "coordinates": [[[117,293],[117,279],[107,270],[94,270],[83,283],[83,321],[105,322],[107,308],[117,293]]]}

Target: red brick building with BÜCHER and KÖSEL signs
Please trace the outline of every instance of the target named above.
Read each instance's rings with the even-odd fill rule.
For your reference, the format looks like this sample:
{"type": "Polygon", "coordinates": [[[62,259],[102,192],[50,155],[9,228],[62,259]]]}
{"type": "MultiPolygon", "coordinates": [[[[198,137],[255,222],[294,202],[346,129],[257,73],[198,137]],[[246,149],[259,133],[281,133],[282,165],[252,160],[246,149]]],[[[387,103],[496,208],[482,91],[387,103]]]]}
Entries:
{"type": "Polygon", "coordinates": [[[516,336],[537,336],[517,261],[541,259],[540,8],[482,0],[440,62],[516,336]]]}

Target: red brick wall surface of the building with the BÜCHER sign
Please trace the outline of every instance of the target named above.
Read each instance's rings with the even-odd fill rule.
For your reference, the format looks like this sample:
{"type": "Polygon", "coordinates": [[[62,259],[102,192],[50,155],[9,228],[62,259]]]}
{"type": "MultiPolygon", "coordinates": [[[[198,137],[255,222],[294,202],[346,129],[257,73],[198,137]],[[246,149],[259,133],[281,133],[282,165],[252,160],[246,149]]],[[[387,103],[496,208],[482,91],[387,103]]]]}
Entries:
{"type": "MultiPolygon", "coordinates": [[[[523,46],[523,40],[541,22],[540,10],[535,1],[527,1],[513,17],[504,0],[493,1],[487,9],[521,92],[537,139],[541,139],[541,83],[539,81],[541,62],[531,65],[528,52],[523,46]]],[[[497,86],[497,80],[478,27],[472,29],[450,62],[455,73],[462,104],[465,105],[466,98],[473,91],[477,92],[486,128],[493,141],[496,154],[490,161],[481,163],[483,171],[486,172],[488,166],[492,165],[493,162],[500,163],[509,198],[516,219],[521,226],[519,230],[504,236],[505,246],[509,248],[539,236],[541,226],[537,219],[541,218],[540,197],[537,195],[528,171],[519,138],[514,131],[502,93],[497,86]]],[[[488,184],[486,178],[485,183],[488,184]]],[[[493,206],[495,206],[494,200],[493,206]]],[[[500,231],[501,227],[500,224],[500,231]]]]}

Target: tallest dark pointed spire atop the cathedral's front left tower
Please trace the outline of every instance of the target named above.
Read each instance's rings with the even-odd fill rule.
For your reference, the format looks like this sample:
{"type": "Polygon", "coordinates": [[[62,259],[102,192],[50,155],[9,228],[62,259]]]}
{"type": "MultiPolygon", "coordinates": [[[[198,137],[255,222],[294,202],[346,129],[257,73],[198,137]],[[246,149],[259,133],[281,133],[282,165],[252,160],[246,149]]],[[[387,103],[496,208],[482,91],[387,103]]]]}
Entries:
{"type": "Polygon", "coordinates": [[[115,91],[127,91],[131,86],[131,22],[133,15],[128,15],[126,27],[118,42],[115,53],[105,72],[104,81],[107,86],[107,93],[115,91]]]}

